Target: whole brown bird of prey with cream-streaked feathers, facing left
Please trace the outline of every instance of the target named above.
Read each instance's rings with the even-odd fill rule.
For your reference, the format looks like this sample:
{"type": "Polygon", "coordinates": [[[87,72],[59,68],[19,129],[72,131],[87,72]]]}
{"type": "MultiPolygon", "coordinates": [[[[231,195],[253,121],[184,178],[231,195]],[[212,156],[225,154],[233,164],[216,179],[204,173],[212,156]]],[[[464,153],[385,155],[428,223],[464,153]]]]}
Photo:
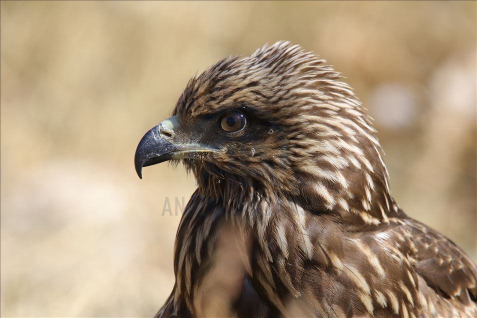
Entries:
{"type": "Polygon", "coordinates": [[[289,42],[189,80],[134,158],[196,178],[157,316],[477,316],[477,266],[392,198],[370,117],[289,42]]]}

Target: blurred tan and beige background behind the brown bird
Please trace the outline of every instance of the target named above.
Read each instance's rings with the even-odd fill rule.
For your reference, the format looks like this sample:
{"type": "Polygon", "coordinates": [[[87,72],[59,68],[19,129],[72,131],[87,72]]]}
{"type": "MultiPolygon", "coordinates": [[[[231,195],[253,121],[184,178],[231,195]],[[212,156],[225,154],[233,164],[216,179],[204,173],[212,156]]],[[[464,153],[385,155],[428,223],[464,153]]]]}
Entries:
{"type": "Polygon", "coordinates": [[[133,168],[195,72],[287,39],[347,77],[392,193],[476,259],[476,2],[1,1],[0,314],[151,316],[194,180],[133,168]]]}

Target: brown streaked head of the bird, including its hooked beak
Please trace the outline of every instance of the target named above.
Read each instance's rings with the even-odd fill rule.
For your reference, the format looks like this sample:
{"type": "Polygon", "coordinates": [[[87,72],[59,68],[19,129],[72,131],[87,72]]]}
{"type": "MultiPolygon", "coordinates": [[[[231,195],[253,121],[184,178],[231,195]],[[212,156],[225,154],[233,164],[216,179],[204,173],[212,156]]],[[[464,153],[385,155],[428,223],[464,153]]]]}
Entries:
{"type": "Polygon", "coordinates": [[[340,79],[289,42],[224,58],[191,78],[173,116],[144,135],[136,171],[181,160],[204,195],[253,191],[316,212],[371,210],[376,196],[385,204],[375,130],[340,79]]]}

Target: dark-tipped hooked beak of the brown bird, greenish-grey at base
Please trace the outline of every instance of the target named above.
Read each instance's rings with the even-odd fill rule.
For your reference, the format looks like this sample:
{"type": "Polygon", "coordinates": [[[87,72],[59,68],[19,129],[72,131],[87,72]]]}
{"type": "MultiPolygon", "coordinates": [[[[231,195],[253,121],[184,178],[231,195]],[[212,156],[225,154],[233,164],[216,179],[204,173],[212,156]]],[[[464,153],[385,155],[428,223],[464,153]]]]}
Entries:
{"type": "Polygon", "coordinates": [[[142,167],[164,162],[170,159],[190,157],[197,152],[215,152],[219,149],[209,148],[189,140],[179,140],[177,136],[178,121],[176,116],[169,117],[147,131],[136,148],[134,168],[142,179],[142,167]]]}

